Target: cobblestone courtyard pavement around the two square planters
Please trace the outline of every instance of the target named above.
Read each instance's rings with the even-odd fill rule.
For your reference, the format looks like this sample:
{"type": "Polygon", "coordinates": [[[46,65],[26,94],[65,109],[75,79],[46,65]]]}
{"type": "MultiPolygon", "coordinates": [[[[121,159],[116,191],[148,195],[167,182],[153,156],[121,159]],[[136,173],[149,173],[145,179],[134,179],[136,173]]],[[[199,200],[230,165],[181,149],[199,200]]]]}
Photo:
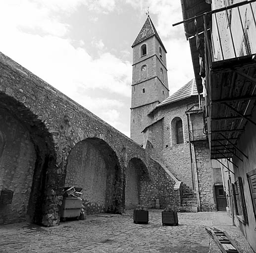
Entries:
{"type": "Polygon", "coordinates": [[[134,224],[132,211],[98,214],[45,228],[29,223],[0,226],[0,253],[220,253],[205,231],[227,231],[253,253],[225,212],[178,213],[179,226],[162,226],[161,210],[150,210],[149,224],[134,224]]]}

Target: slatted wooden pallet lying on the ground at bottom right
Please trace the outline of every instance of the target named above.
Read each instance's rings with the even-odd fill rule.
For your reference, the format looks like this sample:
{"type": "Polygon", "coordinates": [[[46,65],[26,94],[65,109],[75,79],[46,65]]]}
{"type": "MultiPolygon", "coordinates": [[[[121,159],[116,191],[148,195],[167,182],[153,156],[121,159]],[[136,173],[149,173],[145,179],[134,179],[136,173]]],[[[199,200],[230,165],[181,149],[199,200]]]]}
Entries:
{"type": "Polygon", "coordinates": [[[215,241],[222,253],[241,253],[238,246],[225,231],[212,227],[205,227],[209,236],[215,241]]]}

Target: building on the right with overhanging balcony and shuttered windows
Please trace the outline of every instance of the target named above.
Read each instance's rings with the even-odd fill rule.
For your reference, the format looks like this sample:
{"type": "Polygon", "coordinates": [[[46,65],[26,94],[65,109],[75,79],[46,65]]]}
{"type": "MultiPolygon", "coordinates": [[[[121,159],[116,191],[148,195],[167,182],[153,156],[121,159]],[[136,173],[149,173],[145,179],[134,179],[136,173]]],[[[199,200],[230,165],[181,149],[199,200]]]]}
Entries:
{"type": "Polygon", "coordinates": [[[197,36],[194,22],[184,29],[205,94],[210,157],[222,164],[218,195],[226,192],[234,224],[256,251],[256,2],[184,0],[181,7],[183,20],[197,20],[197,36]]]}

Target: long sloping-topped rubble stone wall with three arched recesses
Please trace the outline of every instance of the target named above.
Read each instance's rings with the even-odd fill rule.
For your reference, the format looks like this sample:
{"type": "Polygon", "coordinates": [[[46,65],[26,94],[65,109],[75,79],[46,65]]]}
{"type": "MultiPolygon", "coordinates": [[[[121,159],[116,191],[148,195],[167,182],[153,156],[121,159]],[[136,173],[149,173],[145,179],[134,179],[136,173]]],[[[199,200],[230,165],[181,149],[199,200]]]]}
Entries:
{"type": "Polygon", "coordinates": [[[180,204],[180,184],[151,149],[0,53],[0,224],[59,224],[63,189],[87,213],[180,204]],[[13,194],[13,195],[12,195],[13,194]]]}

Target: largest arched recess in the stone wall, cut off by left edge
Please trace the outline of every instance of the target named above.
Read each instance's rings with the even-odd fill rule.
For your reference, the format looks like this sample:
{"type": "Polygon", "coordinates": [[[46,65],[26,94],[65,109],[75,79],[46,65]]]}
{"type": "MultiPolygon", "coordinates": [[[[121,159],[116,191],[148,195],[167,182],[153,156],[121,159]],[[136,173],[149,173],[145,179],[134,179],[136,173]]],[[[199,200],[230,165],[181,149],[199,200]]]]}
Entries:
{"type": "Polygon", "coordinates": [[[25,220],[41,224],[47,170],[54,159],[51,137],[30,109],[1,92],[0,132],[4,135],[0,190],[13,192],[11,204],[0,205],[0,224],[25,220]]]}

